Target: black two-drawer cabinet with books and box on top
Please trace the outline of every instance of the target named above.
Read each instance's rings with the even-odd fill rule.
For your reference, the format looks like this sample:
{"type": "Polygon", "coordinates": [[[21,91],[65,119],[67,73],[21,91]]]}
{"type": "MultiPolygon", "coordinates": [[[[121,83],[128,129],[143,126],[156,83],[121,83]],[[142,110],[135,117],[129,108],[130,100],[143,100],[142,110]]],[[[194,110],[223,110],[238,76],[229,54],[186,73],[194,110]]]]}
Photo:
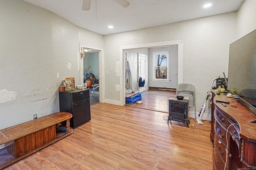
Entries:
{"type": "Polygon", "coordinates": [[[60,111],[72,113],[70,127],[78,127],[91,119],[88,89],[59,92],[60,111]]]}

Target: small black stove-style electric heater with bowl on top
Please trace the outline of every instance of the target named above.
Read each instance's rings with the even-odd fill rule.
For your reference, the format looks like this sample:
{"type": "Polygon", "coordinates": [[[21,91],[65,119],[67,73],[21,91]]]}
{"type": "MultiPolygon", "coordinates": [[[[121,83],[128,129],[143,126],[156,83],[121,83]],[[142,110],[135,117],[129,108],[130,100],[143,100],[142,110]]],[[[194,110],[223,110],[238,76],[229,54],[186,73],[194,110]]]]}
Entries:
{"type": "Polygon", "coordinates": [[[170,98],[167,123],[169,122],[169,120],[186,122],[188,127],[188,123],[190,123],[188,116],[188,102],[189,100],[176,100],[170,98]]]}

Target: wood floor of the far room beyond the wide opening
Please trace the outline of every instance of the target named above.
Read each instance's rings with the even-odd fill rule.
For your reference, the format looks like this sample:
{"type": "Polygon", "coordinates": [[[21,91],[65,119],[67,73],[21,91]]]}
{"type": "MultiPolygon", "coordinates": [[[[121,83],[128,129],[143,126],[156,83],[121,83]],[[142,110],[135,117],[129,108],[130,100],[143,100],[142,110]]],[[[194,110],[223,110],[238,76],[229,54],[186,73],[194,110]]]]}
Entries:
{"type": "Polygon", "coordinates": [[[142,109],[169,112],[169,98],[176,97],[176,91],[163,90],[147,90],[141,93],[141,101],[143,104],[126,104],[130,107],[138,107],[142,109]]]}

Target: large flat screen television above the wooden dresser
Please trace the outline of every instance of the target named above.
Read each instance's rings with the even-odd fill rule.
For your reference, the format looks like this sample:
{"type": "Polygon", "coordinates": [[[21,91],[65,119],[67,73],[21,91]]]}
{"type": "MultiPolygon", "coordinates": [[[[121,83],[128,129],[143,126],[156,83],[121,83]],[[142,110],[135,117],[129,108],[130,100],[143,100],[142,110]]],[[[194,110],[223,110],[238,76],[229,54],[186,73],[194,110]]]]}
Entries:
{"type": "Polygon", "coordinates": [[[228,90],[234,88],[238,102],[256,115],[256,29],[230,44],[228,90]]]}

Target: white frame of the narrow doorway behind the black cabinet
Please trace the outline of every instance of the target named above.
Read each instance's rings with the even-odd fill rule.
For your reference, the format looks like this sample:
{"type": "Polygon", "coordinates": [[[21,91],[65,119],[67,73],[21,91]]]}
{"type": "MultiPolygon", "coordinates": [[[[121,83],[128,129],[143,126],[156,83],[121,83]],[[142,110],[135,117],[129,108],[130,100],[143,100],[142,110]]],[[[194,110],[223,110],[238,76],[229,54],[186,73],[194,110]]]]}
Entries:
{"type": "MultiPolygon", "coordinates": [[[[105,103],[105,76],[104,76],[104,49],[79,43],[79,56],[81,47],[97,50],[99,59],[99,102],[105,103]]],[[[80,57],[80,85],[84,86],[84,58],[80,57]]]]}

